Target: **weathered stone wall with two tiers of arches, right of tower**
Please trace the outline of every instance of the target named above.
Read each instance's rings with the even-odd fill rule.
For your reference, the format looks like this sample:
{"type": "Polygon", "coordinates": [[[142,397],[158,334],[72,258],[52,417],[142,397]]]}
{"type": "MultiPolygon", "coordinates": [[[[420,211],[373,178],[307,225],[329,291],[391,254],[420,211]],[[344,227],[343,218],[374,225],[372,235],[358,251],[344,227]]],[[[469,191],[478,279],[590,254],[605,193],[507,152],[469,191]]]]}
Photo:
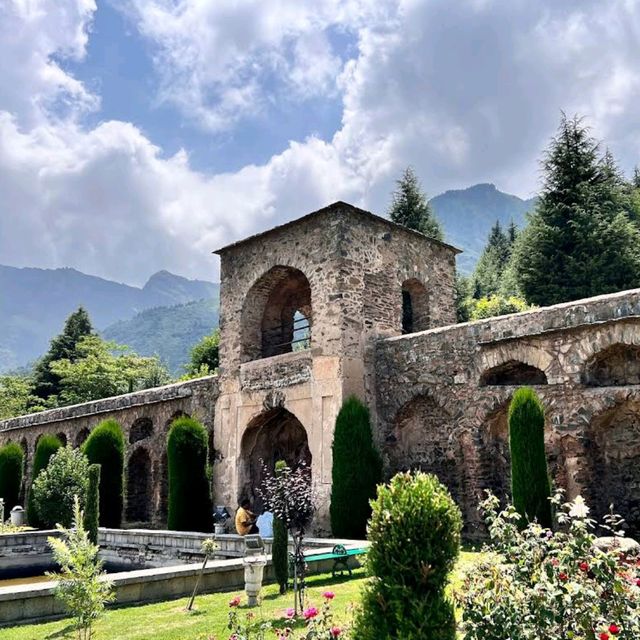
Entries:
{"type": "Polygon", "coordinates": [[[509,487],[507,408],[542,397],[556,484],[640,531],[640,290],[378,342],[376,436],[390,474],[433,471],[480,532],[485,488],[509,487]],[[590,372],[597,370],[597,376],[590,372]]]}

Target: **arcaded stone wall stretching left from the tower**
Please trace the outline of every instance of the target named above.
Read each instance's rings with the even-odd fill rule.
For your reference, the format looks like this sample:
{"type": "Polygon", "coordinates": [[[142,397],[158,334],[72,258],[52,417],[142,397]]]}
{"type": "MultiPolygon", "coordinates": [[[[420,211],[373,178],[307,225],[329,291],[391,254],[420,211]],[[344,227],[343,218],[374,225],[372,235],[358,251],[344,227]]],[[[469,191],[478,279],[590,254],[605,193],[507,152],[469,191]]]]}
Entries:
{"type": "MultiPolygon", "coordinates": [[[[210,434],[212,459],[214,408],[218,397],[215,376],[166,385],[114,398],[52,409],[0,422],[0,444],[18,442],[26,452],[23,498],[30,484],[38,438],[57,434],[65,443],[82,444],[91,429],[112,418],[122,426],[126,449],[125,484],[127,524],[162,526],[167,515],[166,438],[171,422],[180,415],[200,420],[210,434]]],[[[11,507],[9,507],[11,508],[11,507]]]]}

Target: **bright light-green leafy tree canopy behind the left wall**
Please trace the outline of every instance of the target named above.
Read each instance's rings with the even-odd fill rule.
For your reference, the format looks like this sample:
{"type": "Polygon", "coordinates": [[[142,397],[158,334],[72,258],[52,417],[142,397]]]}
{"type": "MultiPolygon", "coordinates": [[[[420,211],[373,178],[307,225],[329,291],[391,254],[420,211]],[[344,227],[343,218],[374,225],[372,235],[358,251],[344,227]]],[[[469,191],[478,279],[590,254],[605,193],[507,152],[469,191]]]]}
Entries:
{"type": "MultiPolygon", "coordinates": [[[[50,368],[60,380],[58,401],[61,405],[155,386],[158,370],[164,371],[157,358],[138,356],[129,347],[105,342],[95,335],[79,340],[73,360],[52,361],[50,368]]],[[[164,377],[168,379],[166,372],[164,377]]]]}

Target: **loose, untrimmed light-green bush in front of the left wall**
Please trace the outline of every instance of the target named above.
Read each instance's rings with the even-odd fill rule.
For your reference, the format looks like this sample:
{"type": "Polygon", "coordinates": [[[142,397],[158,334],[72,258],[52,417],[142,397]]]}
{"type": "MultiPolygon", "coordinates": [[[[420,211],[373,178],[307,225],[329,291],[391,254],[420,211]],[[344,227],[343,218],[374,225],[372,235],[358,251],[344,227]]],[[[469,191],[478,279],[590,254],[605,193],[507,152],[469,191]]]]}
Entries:
{"type": "Polygon", "coordinates": [[[33,482],[33,499],[44,527],[69,528],[73,522],[74,498],[83,508],[89,482],[89,462],[79,449],[61,447],[51,456],[33,482]]]}

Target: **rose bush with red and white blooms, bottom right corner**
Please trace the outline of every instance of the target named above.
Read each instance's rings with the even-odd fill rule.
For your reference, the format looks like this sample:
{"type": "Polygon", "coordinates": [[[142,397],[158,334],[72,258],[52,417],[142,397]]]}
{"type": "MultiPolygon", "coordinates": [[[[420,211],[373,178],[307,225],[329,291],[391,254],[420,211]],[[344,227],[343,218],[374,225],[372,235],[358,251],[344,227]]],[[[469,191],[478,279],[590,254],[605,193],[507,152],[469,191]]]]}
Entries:
{"type": "Polygon", "coordinates": [[[614,545],[595,545],[596,522],[582,498],[552,499],[557,530],[529,524],[492,494],[481,504],[491,545],[488,559],[466,575],[456,593],[466,640],[637,640],[640,638],[640,560],[627,557],[621,521],[600,526],[614,545]]]}

